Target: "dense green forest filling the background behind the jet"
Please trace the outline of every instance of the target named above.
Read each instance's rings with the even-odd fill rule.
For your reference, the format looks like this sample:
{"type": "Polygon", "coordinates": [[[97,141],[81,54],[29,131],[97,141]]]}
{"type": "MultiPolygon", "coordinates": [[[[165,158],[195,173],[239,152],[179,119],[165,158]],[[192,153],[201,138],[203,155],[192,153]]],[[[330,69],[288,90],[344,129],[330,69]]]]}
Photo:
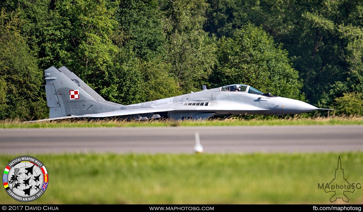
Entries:
{"type": "Polygon", "coordinates": [[[362,16],[353,0],[2,0],[0,118],[46,118],[53,65],[121,104],[248,84],[363,115],[362,16]]]}

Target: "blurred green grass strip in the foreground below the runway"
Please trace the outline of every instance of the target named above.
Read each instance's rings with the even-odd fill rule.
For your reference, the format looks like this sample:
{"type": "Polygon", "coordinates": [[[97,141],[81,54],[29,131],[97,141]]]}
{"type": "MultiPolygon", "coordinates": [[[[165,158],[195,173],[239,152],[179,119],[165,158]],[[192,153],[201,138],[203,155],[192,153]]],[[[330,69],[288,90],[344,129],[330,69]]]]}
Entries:
{"type": "MultiPolygon", "coordinates": [[[[363,184],[363,152],[32,156],[49,185],[30,204],[363,204],[358,187],[348,203],[330,203],[333,192],[318,189],[334,178],[339,156],[347,181],[363,184]]],[[[0,165],[15,157],[0,155],[0,165]]],[[[5,190],[0,203],[29,204],[5,190]]]]}

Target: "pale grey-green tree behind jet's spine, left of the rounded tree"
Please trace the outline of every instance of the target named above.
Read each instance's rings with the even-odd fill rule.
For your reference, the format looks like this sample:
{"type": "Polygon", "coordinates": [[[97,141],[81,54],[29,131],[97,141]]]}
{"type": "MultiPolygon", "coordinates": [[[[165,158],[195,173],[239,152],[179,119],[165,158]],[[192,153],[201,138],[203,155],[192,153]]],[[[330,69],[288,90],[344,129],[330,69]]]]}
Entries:
{"type": "Polygon", "coordinates": [[[166,63],[183,93],[198,91],[207,84],[216,63],[216,42],[210,38],[193,18],[193,1],[168,1],[164,11],[166,33],[166,63]]]}

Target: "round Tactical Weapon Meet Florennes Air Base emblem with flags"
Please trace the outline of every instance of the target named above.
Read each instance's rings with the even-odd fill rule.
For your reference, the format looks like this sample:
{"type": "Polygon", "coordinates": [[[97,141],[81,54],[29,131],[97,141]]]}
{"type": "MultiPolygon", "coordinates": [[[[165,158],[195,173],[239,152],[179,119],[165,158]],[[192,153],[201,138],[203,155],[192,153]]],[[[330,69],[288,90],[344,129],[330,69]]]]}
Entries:
{"type": "Polygon", "coordinates": [[[3,173],[5,191],[21,202],[30,202],[42,196],[48,187],[48,181],[44,164],[31,156],[13,159],[3,173]]]}

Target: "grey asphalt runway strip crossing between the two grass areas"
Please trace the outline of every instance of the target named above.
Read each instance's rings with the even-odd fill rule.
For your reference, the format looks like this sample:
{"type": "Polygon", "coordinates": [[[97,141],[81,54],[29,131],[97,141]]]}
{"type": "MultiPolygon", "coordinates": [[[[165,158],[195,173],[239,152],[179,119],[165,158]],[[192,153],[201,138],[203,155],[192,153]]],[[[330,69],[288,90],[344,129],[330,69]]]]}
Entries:
{"type": "Polygon", "coordinates": [[[363,126],[0,129],[0,153],[204,153],[363,151],[363,126]]]}

